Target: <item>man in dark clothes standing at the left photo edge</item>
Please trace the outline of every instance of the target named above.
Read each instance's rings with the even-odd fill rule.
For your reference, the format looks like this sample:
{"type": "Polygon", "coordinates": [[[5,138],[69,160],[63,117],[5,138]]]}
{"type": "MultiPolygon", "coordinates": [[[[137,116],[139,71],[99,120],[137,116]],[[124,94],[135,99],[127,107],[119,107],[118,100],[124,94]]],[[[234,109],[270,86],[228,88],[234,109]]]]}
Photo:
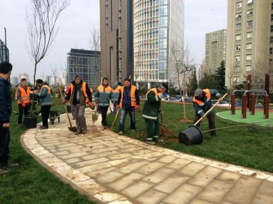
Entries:
{"type": "Polygon", "coordinates": [[[9,160],[9,116],[11,115],[10,77],[12,65],[8,62],[0,63],[0,174],[7,173],[8,167],[18,166],[9,160]]]}

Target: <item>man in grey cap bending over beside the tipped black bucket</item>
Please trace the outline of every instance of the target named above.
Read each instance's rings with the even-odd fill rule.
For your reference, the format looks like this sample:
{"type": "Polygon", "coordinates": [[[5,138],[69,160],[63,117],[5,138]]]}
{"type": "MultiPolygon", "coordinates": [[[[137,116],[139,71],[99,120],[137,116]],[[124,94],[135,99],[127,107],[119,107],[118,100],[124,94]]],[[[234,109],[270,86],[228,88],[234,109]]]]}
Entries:
{"type": "MultiPolygon", "coordinates": [[[[195,109],[194,123],[196,123],[201,117],[204,118],[205,113],[212,107],[212,96],[217,97],[218,101],[223,101],[221,95],[215,89],[196,89],[192,100],[193,107],[195,109]]],[[[207,114],[209,119],[209,129],[215,129],[215,113],[212,110],[207,114]]],[[[196,125],[200,126],[200,122],[196,125]]],[[[216,136],[216,131],[211,131],[211,136],[216,136]]]]}

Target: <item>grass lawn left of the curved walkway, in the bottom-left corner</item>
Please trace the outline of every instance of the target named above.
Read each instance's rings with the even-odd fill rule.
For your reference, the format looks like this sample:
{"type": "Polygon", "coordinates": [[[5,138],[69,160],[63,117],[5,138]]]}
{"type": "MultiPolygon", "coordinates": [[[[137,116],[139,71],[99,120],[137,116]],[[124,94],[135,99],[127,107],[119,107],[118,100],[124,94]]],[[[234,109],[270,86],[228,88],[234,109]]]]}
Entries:
{"type": "MultiPolygon", "coordinates": [[[[17,102],[13,101],[12,105],[13,110],[18,111],[17,102]]],[[[61,109],[54,106],[52,109],[55,108],[61,109]]],[[[25,127],[18,128],[17,120],[18,115],[13,112],[10,120],[10,159],[20,166],[0,175],[0,204],[95,204],[43,168],[23,149],[20,136],[25,127]]]]}

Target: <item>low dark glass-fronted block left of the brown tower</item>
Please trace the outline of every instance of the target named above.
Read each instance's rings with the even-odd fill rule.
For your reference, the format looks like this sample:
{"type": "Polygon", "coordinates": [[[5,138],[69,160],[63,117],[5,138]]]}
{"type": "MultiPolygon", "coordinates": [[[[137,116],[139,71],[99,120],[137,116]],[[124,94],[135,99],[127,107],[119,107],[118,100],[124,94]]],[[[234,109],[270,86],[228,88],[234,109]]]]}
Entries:
{"type": "Polygon", "coordinates": [[[67,85],[79,74],[89,87],[96,88],[100,84],[100,51],[71,49],[67,55],[67,85]]]}

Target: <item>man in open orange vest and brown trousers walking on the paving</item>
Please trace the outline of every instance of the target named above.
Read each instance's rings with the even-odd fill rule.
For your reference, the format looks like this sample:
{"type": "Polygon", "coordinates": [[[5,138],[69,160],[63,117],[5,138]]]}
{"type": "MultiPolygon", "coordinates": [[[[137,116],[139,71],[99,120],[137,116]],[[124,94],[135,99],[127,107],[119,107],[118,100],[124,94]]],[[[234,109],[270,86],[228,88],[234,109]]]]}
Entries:
{"type": "Polygon", "coordinates": [[[74,116],[76,118],[77,132],[74,135],[86,134],[87,126],[85,119],[85,104],[91,107],[92,94],[88,87],[88,84],[81,79],[80,75],[74,76],[74,81],[70,84],[70,90],[68,91],[63,103],[69,100],[70,104],[74,108],[74,116]]]}

